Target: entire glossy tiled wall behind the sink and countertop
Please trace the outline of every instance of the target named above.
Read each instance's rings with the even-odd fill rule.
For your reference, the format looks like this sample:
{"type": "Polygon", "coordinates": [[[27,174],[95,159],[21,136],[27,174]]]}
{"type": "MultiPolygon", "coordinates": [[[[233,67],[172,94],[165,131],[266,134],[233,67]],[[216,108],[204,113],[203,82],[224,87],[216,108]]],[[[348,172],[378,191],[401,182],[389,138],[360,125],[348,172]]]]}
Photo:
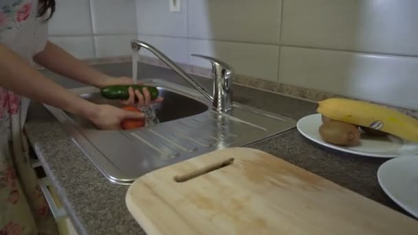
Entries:
{"type": "Polygon", "coordinates": [[[190,56],[206,54],[238,74],[418,109],[415,0],[181,0],[181,12],[167,0],[57,4],[51,40],[79,58],[130,55],[139,36],[177,62],[210,67],[190,56]]]}

